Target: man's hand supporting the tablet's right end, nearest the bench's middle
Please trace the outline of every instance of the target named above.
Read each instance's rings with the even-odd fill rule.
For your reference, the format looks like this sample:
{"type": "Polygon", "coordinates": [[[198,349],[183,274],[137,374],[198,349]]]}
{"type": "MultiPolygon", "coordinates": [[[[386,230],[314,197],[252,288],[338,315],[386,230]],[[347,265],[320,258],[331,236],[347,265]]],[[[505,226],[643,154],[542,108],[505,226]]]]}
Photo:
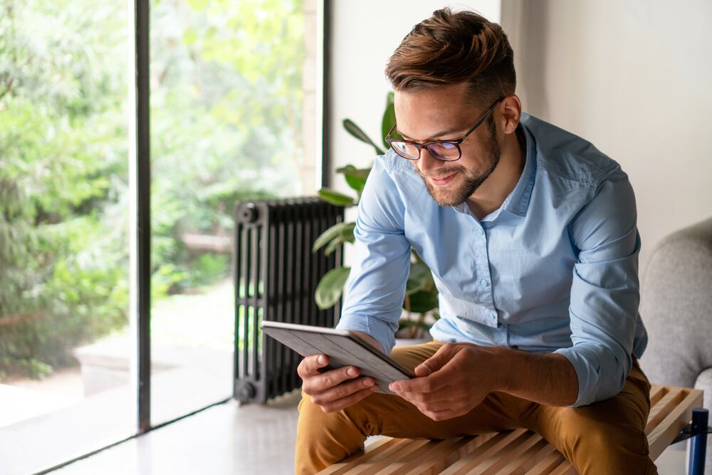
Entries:
{"type": "Polygon", "coordinates": [[[417,377],[392,382],[389,388],[433,420],[467,414],[496,390],[494,351],[471,343],[447,343],[415,368],[417,377]]]}

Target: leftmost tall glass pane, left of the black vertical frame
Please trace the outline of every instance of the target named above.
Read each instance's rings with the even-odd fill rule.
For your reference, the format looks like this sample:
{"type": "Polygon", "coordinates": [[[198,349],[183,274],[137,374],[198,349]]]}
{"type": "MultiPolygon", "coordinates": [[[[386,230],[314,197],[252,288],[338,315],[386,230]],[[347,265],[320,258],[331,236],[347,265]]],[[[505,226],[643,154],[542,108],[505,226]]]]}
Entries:
{"type": "Polygon", "coordinates": [[[127,6],[0,0],[4,473],[135,433],[127,6]]]}

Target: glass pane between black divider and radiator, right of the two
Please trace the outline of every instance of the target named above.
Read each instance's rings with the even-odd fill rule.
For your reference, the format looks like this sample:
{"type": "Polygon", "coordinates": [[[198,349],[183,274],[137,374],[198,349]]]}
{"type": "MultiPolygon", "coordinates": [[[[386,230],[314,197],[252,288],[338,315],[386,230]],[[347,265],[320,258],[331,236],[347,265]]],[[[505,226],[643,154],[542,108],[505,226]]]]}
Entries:
{"type": "Polygon", "coordinates": [[[232,394],[235,203],[315,194],[314,16],[299,0],[152,9],[152,424],[232,394]]]}

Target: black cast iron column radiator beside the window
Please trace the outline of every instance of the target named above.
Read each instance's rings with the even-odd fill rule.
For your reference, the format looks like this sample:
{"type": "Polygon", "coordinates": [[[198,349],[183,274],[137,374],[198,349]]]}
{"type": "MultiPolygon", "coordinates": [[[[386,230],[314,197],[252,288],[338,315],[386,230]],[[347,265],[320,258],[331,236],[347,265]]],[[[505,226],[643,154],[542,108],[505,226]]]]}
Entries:
{"type": "Polygon", "coordinates": [[[239,202],[235,207],[234,397],[266,402],[300,387],[301,357],[259,330],[262,320],[333,327],[340,303],[319,310],[321,277],[342,264],[342,246],[330,256],[311,251],[315,239],[343,221],[344,209],[317,197],[239,202]]]}

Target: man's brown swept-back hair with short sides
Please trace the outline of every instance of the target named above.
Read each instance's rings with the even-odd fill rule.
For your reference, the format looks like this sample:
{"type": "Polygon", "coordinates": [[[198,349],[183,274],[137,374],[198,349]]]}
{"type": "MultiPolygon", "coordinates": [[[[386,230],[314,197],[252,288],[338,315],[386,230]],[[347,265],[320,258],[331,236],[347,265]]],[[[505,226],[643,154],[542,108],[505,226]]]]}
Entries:
{"type": "Polygon", "coordinates": [[[444,8],[413,27],[388,61],[395,90],[469,83],[472,103],[514,93],[514,53],[502,27],[473,11],[444,8]]]}

